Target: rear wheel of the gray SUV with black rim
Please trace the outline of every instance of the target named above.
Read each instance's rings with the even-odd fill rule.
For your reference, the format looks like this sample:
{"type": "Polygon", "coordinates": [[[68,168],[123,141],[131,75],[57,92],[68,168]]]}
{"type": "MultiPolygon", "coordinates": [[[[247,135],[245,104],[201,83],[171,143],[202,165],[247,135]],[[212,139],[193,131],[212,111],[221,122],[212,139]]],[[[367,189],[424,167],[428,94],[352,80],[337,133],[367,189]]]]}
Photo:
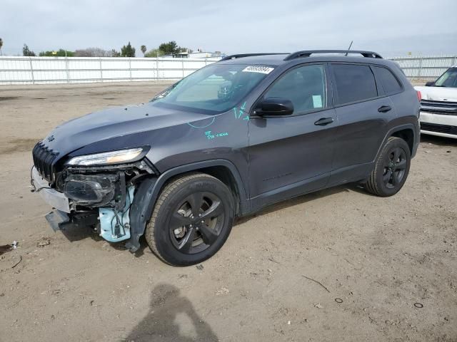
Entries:
{"type": "Polygon", "coordinates": [[[411,166],[411,152],[405,140],[388,138],[376,159],[373,171],[364,187],[373,195],[395,195],[406,182],[411,166]]]}

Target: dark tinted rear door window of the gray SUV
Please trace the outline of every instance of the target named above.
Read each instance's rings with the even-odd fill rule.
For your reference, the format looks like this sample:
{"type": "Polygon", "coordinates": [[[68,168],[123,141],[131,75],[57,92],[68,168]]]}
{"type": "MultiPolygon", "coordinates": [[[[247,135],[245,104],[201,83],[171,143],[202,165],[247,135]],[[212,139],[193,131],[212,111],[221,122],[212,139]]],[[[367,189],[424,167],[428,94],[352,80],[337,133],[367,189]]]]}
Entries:
{"type": "Polygon", "coordinates": [[[338,103],[349,103],[376,98],[376,81],[369,66],[333,64],[338,103]]]}

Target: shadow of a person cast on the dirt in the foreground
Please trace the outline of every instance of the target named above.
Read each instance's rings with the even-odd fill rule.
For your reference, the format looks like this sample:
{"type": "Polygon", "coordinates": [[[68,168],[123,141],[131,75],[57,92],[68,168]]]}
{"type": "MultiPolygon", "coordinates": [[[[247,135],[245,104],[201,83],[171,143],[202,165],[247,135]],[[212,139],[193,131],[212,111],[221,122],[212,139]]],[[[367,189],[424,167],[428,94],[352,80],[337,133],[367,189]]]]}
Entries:
{"type": "Polygon", "coordinates": [[[218,337],[176,286],[163,283],[152,291],[149,313],[125,341],[212,342],[218,337]]]}

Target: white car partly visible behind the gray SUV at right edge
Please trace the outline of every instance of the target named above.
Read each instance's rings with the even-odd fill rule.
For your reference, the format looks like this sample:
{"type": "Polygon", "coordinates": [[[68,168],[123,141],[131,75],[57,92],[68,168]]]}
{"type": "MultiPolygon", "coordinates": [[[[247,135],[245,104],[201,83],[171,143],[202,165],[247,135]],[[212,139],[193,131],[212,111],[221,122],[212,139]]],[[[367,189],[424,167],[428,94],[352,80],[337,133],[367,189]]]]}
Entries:
{"type": "Polygon", "coordinates": [[[421,92],[421,133],[457,139],[457,66],[452,66],[421,92]]]}

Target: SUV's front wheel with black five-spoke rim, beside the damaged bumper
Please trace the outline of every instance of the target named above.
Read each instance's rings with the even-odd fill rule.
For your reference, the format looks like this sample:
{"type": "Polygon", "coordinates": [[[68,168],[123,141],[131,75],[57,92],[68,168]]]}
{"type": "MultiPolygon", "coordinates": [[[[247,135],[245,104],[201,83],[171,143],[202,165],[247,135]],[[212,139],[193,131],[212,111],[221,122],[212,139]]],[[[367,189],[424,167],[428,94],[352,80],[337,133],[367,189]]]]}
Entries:
{"type": "Polygon", "coordinates": [[[146,241],[167,264],[199,264],[216,254],[229,237],[233,207],[231,191],[215,177],[204,173],[176,177],[157,199],[146,241]]]}

